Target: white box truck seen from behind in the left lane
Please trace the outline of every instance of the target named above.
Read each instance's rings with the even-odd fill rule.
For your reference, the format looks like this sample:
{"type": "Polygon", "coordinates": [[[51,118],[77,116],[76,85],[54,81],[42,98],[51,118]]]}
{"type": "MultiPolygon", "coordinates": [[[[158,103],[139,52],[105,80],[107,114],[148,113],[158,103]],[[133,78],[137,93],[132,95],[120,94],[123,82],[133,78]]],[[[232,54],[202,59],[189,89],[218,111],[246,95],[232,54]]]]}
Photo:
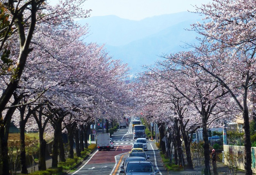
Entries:
{"type": "Polygon", "coordinates": [[[110,134],[109,133],[97,133],[97,148],[99,151],[108,150],[110,151],[110,134]]]}

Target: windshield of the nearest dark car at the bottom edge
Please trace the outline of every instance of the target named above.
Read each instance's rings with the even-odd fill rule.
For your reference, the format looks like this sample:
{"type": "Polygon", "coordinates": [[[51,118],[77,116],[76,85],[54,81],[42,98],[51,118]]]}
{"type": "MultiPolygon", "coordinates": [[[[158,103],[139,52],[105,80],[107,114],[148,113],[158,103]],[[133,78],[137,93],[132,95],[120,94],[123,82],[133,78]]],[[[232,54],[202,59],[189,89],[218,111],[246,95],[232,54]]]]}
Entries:
{"type": "Polygon", "coordinates": [[[128,163],[126,172],[153,172],[153,167],[150,163],[128,163]]]}

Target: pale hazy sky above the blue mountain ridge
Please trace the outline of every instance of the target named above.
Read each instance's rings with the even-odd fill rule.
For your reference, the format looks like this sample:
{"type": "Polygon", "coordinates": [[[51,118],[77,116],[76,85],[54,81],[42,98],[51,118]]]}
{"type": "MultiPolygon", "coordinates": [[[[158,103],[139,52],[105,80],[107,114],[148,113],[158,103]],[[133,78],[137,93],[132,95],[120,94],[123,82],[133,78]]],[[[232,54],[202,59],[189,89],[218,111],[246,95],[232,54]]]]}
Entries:
{"type": "MultiPolygon", "coordinates": [[[[59,0],[48,0],[54,4],[59,0]]],[[[156,15],[194,10],[211,0],[87,0],[84,9],[91,9],[91,16],[116,15],[130,20],[142,20],[156,15]]]]}

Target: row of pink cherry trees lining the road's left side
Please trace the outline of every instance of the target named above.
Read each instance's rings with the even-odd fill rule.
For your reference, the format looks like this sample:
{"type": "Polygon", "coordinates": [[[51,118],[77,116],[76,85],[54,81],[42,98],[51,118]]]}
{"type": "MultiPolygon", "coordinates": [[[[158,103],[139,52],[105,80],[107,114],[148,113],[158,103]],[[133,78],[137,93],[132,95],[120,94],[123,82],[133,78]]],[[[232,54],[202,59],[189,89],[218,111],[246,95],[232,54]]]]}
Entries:
{"type": "Polygon", "coordinates": [[[72,18],[87,18],[84,0],[49,6],[45,0],[1,4],[0,172],[9,174],[10,122],[20,128],[20,164],[26,167],[25,130],[39,132],[39,170],[46,170],[46,141],[54,135],[52,167],[65,161],[62,132],[73,138],[96,117],[119,119],[132,104],[123,81],[128,71],[96,43],[84,43],[87,27],[72,18]],[[44,135],[47,133],[47,135],[44,135]],[[60,150],[60,152],[59,152],[60,150]]]}

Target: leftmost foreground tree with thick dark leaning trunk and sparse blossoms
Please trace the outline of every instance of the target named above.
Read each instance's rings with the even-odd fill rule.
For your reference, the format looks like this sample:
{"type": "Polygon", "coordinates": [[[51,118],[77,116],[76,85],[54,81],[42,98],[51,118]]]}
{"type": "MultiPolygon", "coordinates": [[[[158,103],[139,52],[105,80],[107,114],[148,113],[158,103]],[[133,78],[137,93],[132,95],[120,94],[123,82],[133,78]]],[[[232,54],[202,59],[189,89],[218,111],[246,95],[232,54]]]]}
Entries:
{"type": "MultiPolygon", "coordinates": [[[[31,0],[28,2],[25,1],[13,1],[8,0],[8,2],[5,3],[6,11],[2,11],[2,13],[9,14],[10,23],[8,26],[6,26],[3,30],[1,30],[1,45],[0,45],[0,52],[3,55],[6,55],[6,48],[7,46],[10,47],[11,43],[17,43],[20,45],[20,50],[18,53],[18,57],[16,54],[13,54],[13,60],[9,61],[12,63],[12,67],[9,69],[8,74],[4,74],[5,76],[5,85],[2,88],[2,93],[0,96],[0,111],[1,116],[3,115],[3,110],[5,110],[6,105],[8,104],[8,101],[11,99],[13,92],[18,87],[18,83],[20,80],[20,77],[23,73],[28,54],[32,51],[30,48],[31,39],[35,32],[36,23],[38,21],[47,23],[50,19],[54,19],[55,21],[60,20],[60,17],[64,19],[65,17],[70,17],[69,14],[72,14],[73,17],[76,16],[77,13],[74,13],[74,5],[77,10],[78,6],[75,4],[75,1],[72,1],[73,5],[68,5],[67,3],[70,1],[66,1],[66,3],[61,3],[63,6],[59,5],[59,7],[63,7],[62,10],[60,8],[53,8],[53,10],[56,10],[54,12],[50,12],[49,14],[46,13],[47,8],[46,3],[44,0],[31,0]],[[68,11],[65,11],[63,9],[67,9],[68,11]],[[59,10],[58,10],[59,9],[59,10]],[[72,10],[73,9],[73,10],[72,10]],[[65,13],[63,13],[65,12],[65,13]],[[19,39],[18,39],[19,38],[19,39]]],[[[81,1],[79,1],[81,3],[81,1]]],[[[79,17],[86,16],[84,15],[84,12],[79,9],[79,17]]],[[[38,22],[39,23],[39,22],[38,22]]],[[[48,25],[50,23],[47,23],[48,25]]],[[[7,50],[8,51],[8,50],[7,50]]],[[[2,72],[2,70],[1,70],[2,72]]],[[[7,117],[7,116],[5,116],[7,117]]],[[[11,116],[9,116],[11,117],[11,116]]],[[[3,172],[5,174],[8,174],[8,159],[5,152],[5,148],[7,148],[7,138],[8,138],[8,126],[11,118],[3,119],[1,117],[1,155],[4,159],[3,163],[3,172]],[[4,126],[2,128],[2,126],[4,126]],[[7,136],[7,137],[6,137],[7,136]],[[5,161],[6,160],[6,161],[5,161]],[[5,165],[6,164],[6,165],[5,165]]]]}

